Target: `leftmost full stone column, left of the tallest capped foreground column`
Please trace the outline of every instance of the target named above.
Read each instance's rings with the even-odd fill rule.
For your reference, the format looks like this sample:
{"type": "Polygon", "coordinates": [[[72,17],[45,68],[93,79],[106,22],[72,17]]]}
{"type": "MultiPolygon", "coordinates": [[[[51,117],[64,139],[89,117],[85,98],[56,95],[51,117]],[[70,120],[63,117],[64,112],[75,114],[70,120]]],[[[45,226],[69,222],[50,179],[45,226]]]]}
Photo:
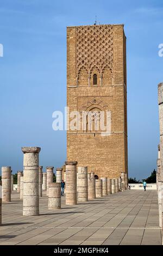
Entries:
{"type": "Polygon", "coordinates": [[[11,167],[2,167],[2,202],[11,201],[11,167]]]}

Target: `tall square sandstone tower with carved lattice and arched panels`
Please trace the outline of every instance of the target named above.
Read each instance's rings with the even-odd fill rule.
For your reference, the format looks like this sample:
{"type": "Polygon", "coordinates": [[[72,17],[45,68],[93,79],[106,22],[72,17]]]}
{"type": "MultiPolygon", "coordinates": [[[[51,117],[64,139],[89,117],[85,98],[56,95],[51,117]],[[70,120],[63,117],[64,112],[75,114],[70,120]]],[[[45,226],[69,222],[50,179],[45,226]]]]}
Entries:
{"type": "Polygon", "coordinates": [[[127,173],[123,25],[67,27],[67,107],[67,161],[87,166],[99,178],[127,173]],[[79,113],[76,121],[74,111],[79,113]],[[109,130],[99,125],[101,120],[105,126],[110,120],[109,130]]]}

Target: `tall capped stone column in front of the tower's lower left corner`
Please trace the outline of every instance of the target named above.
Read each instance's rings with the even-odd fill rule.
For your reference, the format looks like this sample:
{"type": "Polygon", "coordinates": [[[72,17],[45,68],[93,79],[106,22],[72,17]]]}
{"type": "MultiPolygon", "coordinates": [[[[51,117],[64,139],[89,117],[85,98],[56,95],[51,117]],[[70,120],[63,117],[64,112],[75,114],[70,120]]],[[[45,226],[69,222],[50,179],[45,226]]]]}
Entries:
{"type": "Polygon", "coordinates": [[[77,204],[77,163],[76,161],[65,162],[67,205],[77,204]]]}

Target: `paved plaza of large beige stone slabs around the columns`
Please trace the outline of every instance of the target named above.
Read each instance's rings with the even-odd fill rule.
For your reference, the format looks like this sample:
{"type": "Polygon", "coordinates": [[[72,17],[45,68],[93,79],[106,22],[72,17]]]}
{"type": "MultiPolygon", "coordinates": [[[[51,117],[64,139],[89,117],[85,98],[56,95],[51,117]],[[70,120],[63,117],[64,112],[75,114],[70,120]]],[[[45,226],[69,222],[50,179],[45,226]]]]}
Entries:
{"type": "Polygon", "coordinates": [[[161,245],[156,191],[124,191],[77,205],[22,216],[20,194],[2,206],[0,245],[161,245]]]}

